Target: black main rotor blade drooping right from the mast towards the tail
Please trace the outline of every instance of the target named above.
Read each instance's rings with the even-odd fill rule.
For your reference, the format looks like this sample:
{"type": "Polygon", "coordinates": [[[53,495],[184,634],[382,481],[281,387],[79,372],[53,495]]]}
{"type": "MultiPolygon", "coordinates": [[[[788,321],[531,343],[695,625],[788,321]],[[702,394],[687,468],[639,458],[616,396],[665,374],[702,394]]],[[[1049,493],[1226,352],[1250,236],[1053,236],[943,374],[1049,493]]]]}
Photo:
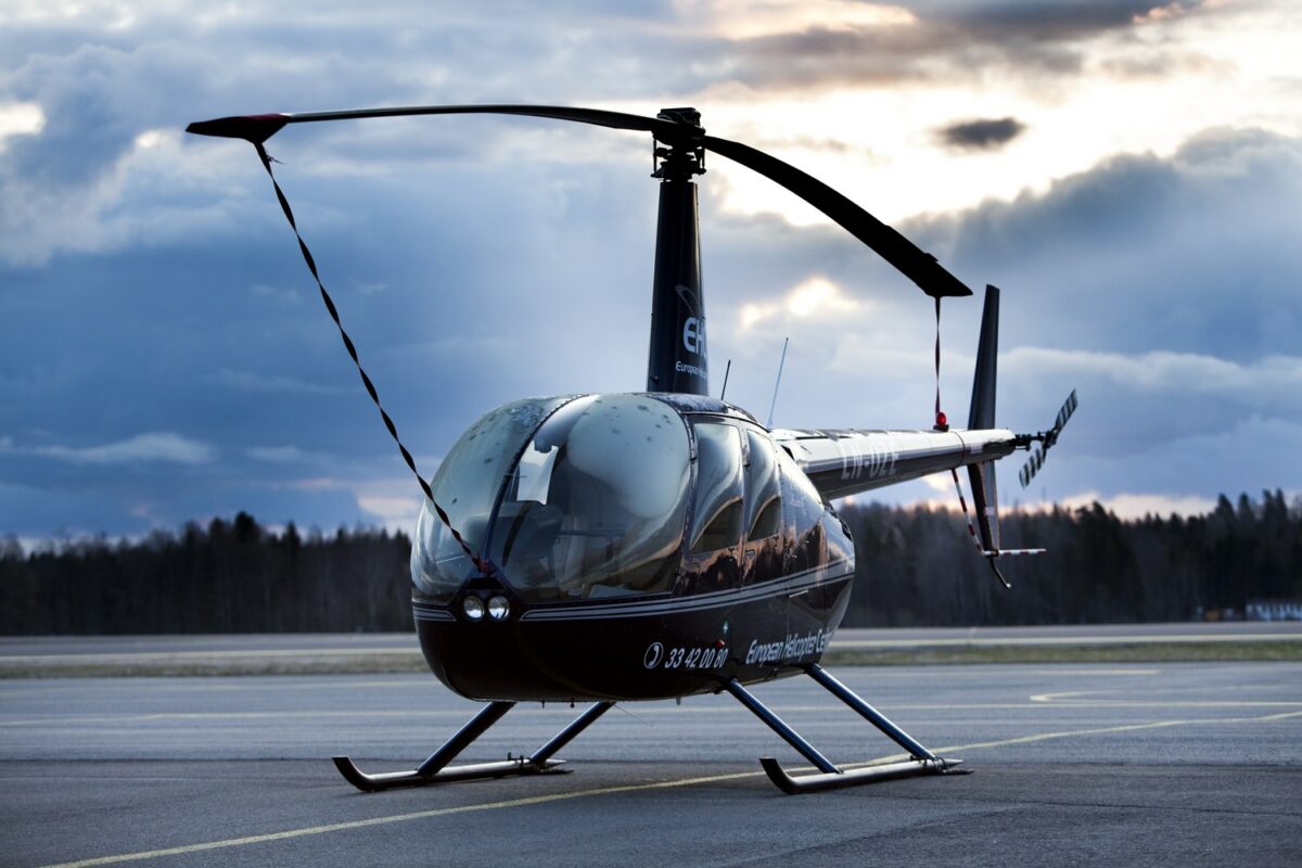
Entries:
{"type": "Polygon", "coordinates": [[[814,176],[741,142],[707,135],[702,139],[702,144],[805,199],[876,251],[928,295],[940,298],[973,294],[973,290],[945,271],[935,256],[918,249],[911,241],[814,176]]]}

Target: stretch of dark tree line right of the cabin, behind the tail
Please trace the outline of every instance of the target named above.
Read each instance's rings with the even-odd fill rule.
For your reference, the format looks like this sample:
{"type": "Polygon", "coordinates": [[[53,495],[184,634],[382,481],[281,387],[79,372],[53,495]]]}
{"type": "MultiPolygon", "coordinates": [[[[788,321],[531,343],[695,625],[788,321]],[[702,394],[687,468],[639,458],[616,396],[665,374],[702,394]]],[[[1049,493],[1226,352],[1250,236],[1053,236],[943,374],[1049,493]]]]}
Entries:
{"type": "Polygon", "coordinates": [[[1253,603],[1302,601],[1302,498],[1224,495],[1206,515],[1122,521],[1098,502],[1006,510],[999,584],[961,514],[846,506],[857,575],[846,626],[1126,623],[1237,618],[1253,603]],[[962,528],[961,531],[958,528],[962,528]]]}

